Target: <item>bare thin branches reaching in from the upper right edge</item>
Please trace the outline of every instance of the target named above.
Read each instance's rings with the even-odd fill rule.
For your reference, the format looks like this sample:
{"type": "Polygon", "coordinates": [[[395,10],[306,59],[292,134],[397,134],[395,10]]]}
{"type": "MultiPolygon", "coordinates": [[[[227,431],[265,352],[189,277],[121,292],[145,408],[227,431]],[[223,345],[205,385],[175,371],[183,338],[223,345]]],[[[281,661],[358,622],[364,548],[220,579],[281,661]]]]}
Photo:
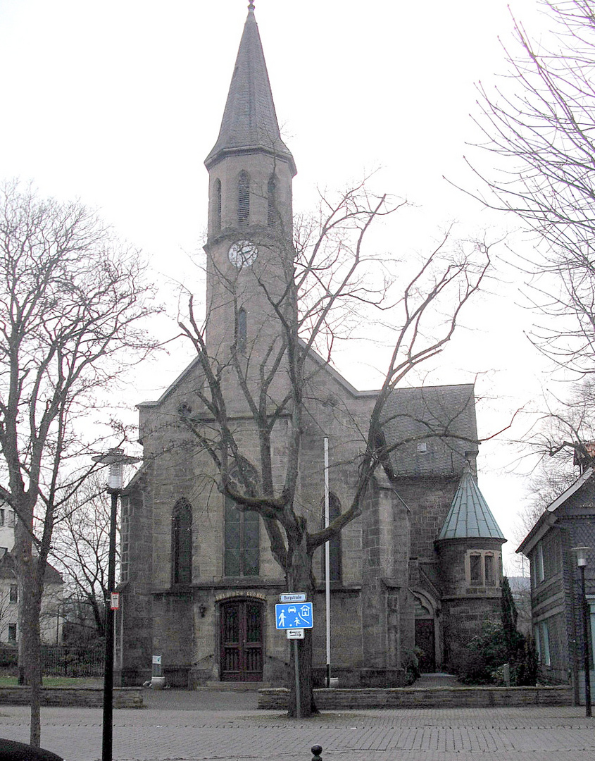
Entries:
{"type": "Polygon", "coordinates": [[[538,236],[528,296],[542,314],[533,342],[565,370],[595,371],[595,3],[542,0],[551,33],[531,37],[514,21],[500,88],[479,84],[482,148],[491,174],[476,168],[493,209],[513,212],[538,236]]]}

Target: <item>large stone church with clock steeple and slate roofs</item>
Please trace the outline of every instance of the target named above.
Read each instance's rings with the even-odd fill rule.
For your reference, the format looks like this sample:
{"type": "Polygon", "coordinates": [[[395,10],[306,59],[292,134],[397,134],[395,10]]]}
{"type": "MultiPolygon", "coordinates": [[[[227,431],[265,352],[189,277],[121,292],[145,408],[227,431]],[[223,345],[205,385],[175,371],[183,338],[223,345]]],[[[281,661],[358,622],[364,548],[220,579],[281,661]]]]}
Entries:
{"type": "MultiPolygon", "coordinates": [[[[205,166],[206,343],[223,368],[228,419],[250,451],[256,433],[245,395],[224,371],[233,346],[245,356],[246,383],[256,384],[254,368],[272,345],[270,297],[282,293],[291,271],[283,241],[291,236],[296,173],[279,133],[251,4],[205,166]],[[263,279],[266,292],[257,287],[263,279]]],[[[308,524],[320,527],[324,439],[332,520],[350,502],[359,432],[368,429],[377,392],[356,390],[313,351],[308,362],[298,494],[308,524]]],[[[279,373],[269,393],[282,395],[285,383],[279,373]]],[[[160,399],[138,405],[144,465],[122,498],[116,669],[125,685],[151,676],[154,654],[172,686],[282,684],[287,677],[290,643],[274,616],[285,578],[263,521],[224,497],[212,459],[180,422],[187,412],[208,425],[204,388],[197,358],[160,399]]],[[[398,686],[414,658],[422,670],[445,667],[458,642],[499,616],[505,540],[476,484],[473,385],[394,390],[385,419],[387,442],[402,445],[377,470],[361,516],[330,543],[331,673],[343,685],[398,686]]],[[[278,416],[274,473],[282,471],[289,426],[289,415],[278,416]]],[[[314,572],[313,665],[320,683],[326,662],[320,549],[314,572]]]]}

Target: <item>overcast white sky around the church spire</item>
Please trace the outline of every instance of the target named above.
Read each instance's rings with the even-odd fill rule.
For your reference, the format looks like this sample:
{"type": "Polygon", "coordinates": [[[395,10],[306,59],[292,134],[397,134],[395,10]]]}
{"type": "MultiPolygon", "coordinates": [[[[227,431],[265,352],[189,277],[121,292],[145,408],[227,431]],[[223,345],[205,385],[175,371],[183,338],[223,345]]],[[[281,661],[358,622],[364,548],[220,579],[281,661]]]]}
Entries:
{"type": "MultiPolygon", "coordinates": [[[[462,234],[506,222],[453,189],[476,132],[474,83],[506,71],[508,5],[537,28],[536,0],[256,0],[256,19],[278,118],[298,164],[294,208],[313,207],[316,186],[340,188],[379,168],[376,186],[415,212],[384,231],[387,250],[425,250],[450,221],[462,234]]],[[[188,254],[205,229],[202,164],[218,135],[247,0],[0,0],[0,177],[100,209],[151,259],[155,278],[189,279],[188,254]]],[[[506,224],[514,224],[514,221],[506,224]]],[[[504,251],[502,252],[504,253],[504,251]]],[[[478,374],[482,435],[545,382],[514,306],[518,276],[485,295],[429,382],[478,374]]],[[[171,316],[177,306],[171,304],[171,316]]],[[[173,328],[172,328],[173,332],[173,328]]],[[[156,398],[185,358],[161,359],[136,401],[156,398]]],[[[374,386],[372,355],[345,372],[374,386]]],[[[528,408],[527,408],[528,409],[528,408]]],[[[514,431],[520,435],[522,425],[514,431]]],[[[503,443],[480,447],[479,485],[511,536],[523,484],[503,443]]],[[[514,549],[514,542],[508,549],[514,549]]]]}

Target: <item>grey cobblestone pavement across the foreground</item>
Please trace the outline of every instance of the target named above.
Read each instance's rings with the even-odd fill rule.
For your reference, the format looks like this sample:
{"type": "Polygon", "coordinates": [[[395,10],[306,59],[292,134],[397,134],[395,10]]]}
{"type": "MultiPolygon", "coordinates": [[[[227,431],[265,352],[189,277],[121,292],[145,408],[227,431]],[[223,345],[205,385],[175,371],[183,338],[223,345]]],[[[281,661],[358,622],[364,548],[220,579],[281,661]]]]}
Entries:
{"type": "MultiPolygon", "coordinates": [[[[66,761],[97,761],[101,718],[98,708],[44,708],[42,746],[66,761]]],[[[333,711],[291,721],[250,709],[152,707],[113,718],[114,761],[310,761],[315,744],[323,761],[595,759],[595,719],[583,708],[333,711]]],[[[28,709],[0,707],[0,736],[27,742],[28,709]]]]}

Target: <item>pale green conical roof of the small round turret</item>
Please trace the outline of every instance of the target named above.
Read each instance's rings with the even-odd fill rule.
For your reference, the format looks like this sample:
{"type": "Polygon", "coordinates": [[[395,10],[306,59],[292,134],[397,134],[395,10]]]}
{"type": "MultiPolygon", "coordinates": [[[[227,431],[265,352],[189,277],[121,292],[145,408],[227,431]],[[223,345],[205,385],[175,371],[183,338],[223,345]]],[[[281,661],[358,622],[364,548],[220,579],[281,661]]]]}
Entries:
{"type": "Polygon", "coordinates": [[[438,540],[473,537],[506,541],[492,511],[488,508],[488,503],[479,491],[471,469],[466,466],[444,525],[438,534],[438,540]]]}

